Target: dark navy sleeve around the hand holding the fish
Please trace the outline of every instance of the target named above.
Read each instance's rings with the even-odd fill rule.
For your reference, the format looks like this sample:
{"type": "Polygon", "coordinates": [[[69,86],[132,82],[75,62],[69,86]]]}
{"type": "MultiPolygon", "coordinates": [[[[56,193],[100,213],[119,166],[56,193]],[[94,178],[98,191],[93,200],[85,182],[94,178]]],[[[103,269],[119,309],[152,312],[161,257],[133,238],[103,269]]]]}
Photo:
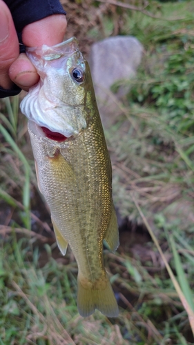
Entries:
{"type": "MultiPolygon", "coordinates": [[[[19,43],[23,28],[34,21],[51,16],[52,14],[66,14],[59,0],[3,0],[12,14],[14,26],[17,31],[19,43]]],[[[20,52],[24,52],[20,46],[20,52]]],[[[4,90],[0,87],[0,98],[18,95],[21,88],[14,85],[12,90],[4,90]]]]}

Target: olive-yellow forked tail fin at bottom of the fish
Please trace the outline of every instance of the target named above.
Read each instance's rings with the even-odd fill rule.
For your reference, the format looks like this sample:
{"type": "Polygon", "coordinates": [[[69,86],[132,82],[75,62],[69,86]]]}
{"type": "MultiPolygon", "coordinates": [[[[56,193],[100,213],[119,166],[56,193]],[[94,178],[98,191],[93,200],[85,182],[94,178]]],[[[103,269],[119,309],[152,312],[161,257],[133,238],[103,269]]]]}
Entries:
{"type": "Polygon", "coordinates": [[[117,317],[119,308],[108,277],[93,284],[86,280],[81,284],[78,277],[77,307],[79,314],[84,317],[93,314],[95,309],[108,317],[117,317]]]}

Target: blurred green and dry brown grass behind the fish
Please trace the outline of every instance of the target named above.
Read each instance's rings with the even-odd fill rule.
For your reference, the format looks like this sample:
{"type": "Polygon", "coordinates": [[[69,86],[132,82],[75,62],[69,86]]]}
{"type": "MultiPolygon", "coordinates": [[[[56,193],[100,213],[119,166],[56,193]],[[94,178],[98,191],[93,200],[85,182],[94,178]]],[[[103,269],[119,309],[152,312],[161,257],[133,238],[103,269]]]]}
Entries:
{"type": "Polygon", "coordinates": [[[117,253],[105,250],[119,317],[77,313],[77,265],[70,250],[61,257],[48,210],[37,207],[26,119],[14,97],[0,113],[0,344],[193,344],[193,1],[149,1],[146,13],[86,3],[101,19],[89,40],[117,28],[144,44],[137,77],[113,86],[122,84],[126,97],[106,130],[115,205],[135,229],[121,233],[117,253]]]}

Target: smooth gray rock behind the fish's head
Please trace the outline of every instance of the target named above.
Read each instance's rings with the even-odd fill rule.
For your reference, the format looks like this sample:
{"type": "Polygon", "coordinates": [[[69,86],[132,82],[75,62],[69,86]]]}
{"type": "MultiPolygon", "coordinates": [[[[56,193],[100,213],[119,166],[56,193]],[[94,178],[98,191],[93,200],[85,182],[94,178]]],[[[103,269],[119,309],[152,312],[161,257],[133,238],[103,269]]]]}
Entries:
{"type": "Polygon", "coordinates": [[[115,121],[121,112],[118,100],[124,95],[120,88],[117,94],[110,86],[119,79],[131,79],[142,59],[143,47],[132,36],[109,37],[91,46],[89,64],[102,123],[105,127],[115,121]]]}

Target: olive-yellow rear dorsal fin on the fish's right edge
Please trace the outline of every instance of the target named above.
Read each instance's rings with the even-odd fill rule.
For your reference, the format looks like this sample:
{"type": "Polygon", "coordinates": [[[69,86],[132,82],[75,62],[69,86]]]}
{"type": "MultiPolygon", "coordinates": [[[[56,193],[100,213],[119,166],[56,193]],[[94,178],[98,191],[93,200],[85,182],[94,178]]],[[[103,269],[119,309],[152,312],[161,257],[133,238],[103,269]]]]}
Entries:
{"type": "Polygon", "coordinates": [[[115,252],[119,246],[119,231],[118,231],[118,224],[117,224],[117,216],[115,213],[115,208],[113,206],[112,214],[110,217],[110,223],[108,225],[108,229],[106,230],[106,235],[104,240],[108,244],[108,247],[112,252],[115,252]]]}

